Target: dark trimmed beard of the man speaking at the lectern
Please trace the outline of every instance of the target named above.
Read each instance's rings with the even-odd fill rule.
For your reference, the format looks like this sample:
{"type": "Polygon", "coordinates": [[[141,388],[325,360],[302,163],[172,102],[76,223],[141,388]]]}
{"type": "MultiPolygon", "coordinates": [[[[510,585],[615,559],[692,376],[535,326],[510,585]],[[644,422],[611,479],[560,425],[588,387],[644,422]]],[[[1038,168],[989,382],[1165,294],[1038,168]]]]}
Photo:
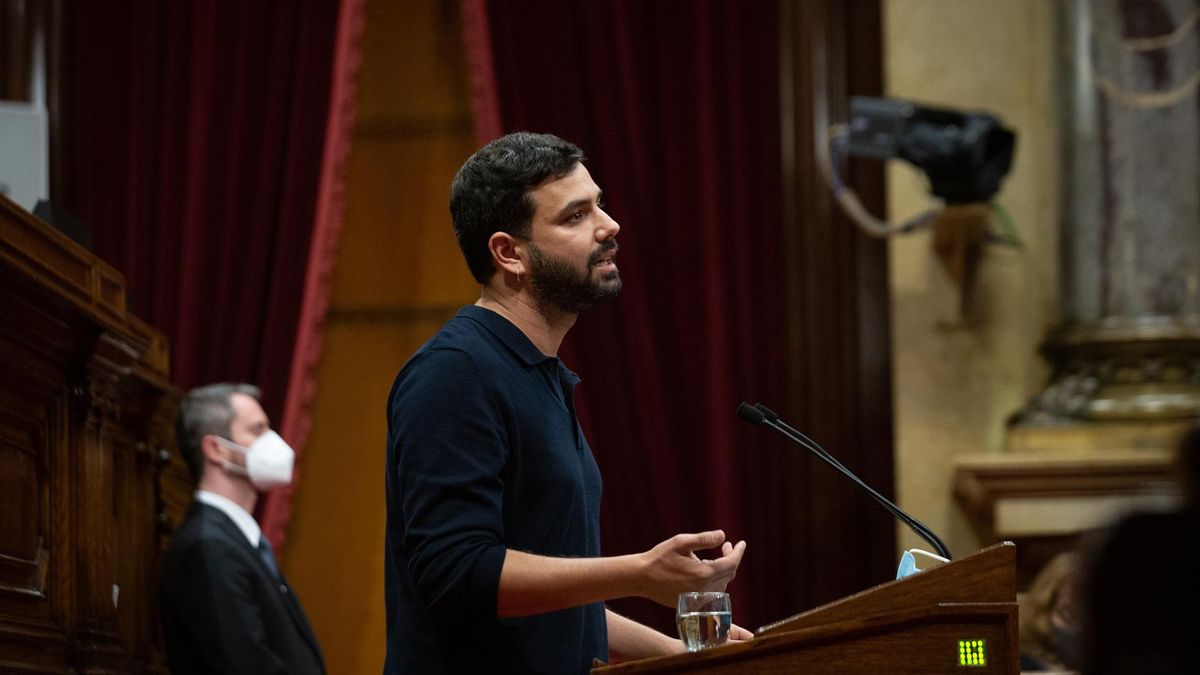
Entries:
{"type": "Polygon", "coordinates": [[[581,313],[620,293],[620,274],[616,270],[600,280],[592,279],[595,263],[617,250],[617,240],[605,241],[590,257],[583,274],[563,258],[548,256],[533,243],[529,244],[529,280],[534,295],[545,309],[563,313],[581,313]]]}

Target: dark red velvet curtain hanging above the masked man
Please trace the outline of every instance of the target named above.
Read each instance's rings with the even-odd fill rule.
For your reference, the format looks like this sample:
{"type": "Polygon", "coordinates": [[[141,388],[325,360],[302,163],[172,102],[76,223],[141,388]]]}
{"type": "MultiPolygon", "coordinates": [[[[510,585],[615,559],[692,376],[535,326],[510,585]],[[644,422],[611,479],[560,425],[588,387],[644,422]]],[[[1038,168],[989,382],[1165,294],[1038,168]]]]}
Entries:
{"type": "MultiPolygon", "coordinates": [[[[353,117],[352,92],[334,86],[356,62],[338,56],[353,37],[344,8],[121,0],[64,12],[55,198],[125,274],[130,309],[166,334],[175,384],[257,383],[298,447],[340,222],[330,167],[353,117]]],[[[264,526],[278,545],[287,509],[274,510],[264,526]]]]}

